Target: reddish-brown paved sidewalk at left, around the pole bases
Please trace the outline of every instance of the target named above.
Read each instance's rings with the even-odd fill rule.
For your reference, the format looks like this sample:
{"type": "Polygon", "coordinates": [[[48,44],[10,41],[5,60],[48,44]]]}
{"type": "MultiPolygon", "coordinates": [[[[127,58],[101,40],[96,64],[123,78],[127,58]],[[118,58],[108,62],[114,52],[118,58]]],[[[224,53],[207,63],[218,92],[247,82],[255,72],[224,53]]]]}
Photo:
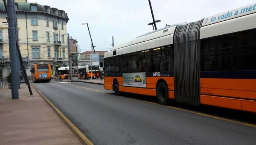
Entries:
{"type": "Polygon", "coordinates": [[[45,100],[21,84],[19,99],[11,89],[0,90],[0,145],[81,145],[45,100]]]}

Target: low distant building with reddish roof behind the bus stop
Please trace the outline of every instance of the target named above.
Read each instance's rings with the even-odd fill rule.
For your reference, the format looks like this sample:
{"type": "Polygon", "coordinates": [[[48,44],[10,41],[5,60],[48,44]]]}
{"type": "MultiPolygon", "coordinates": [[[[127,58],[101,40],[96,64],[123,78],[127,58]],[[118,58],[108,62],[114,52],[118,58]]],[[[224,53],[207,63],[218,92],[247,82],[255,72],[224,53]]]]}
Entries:
{"type": "MultiPolygon", "coordinates": [[[[103,62],[104,64],[104,53],[107,51],[95,51],[95,53],[99,53],[99,62],[103,62]]],[[[91,51],[85,51],[79,54],[78,65],[90,65],[91,64],[91,51]]]]}

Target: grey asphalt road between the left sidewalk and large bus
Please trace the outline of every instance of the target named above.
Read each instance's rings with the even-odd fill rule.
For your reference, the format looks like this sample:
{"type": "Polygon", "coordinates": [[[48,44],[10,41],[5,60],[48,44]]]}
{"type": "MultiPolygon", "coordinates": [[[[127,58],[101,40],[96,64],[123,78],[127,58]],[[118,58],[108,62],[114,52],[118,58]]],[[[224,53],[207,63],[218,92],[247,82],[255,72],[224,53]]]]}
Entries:
{"type": "Polygon", "coordinates": [[[256,144],[256,126],[247,125],[256,124],[256,114],[217,107],[162,106],[155,97],[115,96],[89,83],[34,85],[95,145],[256,144]]]}

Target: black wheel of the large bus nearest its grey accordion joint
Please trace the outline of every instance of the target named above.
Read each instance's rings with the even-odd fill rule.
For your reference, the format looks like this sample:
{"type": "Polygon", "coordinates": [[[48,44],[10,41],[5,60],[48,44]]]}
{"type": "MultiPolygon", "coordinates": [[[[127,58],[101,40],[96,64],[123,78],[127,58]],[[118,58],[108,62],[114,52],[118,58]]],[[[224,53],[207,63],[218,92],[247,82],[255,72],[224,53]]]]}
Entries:
{"type": "Polygon", "coordinates": [[[168,89],[164,82],[160,82],[157,85],[157,99],[162,105],[166,105],[169,101],[168,89]]]}

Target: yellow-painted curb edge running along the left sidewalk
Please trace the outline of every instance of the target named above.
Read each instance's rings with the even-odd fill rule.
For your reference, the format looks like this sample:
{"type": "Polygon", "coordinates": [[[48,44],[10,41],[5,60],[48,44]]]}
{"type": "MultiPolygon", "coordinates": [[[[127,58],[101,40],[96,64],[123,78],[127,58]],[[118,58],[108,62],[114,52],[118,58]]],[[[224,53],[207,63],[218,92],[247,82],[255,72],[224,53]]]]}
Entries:
{"type": "Polygon", "coordinates": [[[83,135],[83,133],[78,130],[78,128],[76,128],[76,126],[71,121],[69,121],[69,119],[65,117],[65,115],[63,115],[59,109],[56,108],[33,84],[31,84],[31,86],[36,89],[41,97],[56,111],[56,113],[60,115],[60,117],[69,125],[70,128],[72,128],[72,130],[78,135],[79,138],[82,139],[83,142],[85,142],[86,145],[93,145],[92,142],[87,137],[85,137],[85,135],[83,135]]]}

